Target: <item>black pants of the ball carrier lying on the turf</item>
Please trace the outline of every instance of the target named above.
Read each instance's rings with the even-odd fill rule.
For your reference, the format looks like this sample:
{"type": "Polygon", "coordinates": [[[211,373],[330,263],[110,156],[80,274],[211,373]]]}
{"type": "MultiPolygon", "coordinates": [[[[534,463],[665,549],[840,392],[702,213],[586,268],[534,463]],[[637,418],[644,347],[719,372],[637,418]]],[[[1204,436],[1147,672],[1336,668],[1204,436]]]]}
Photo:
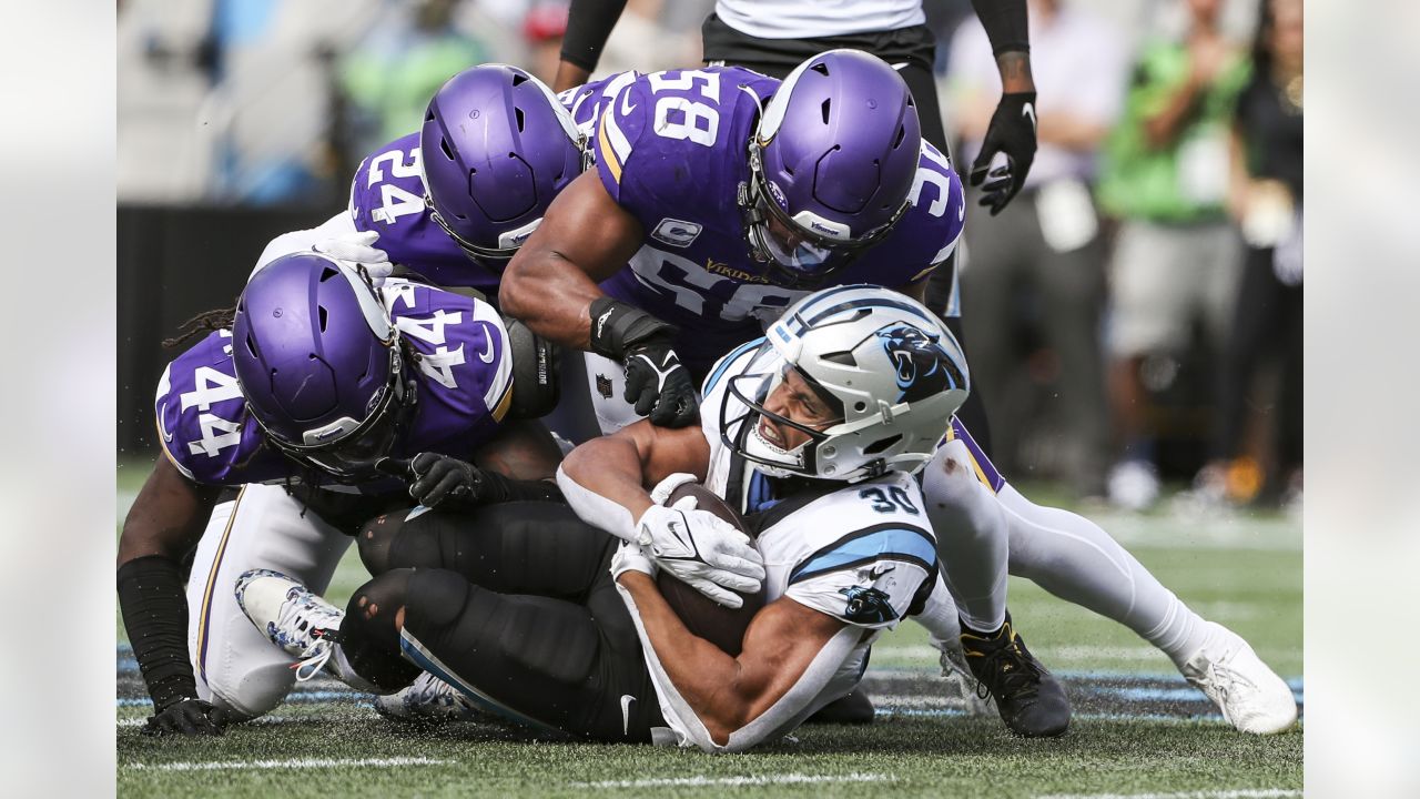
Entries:
{"type": "Polygon", "coordinates": [[[649,742],[665,725],[611,577],[616,539],[551,502],[406,515],[359,535],[378,576],[351,597],[341,643],[362,677],[410,682],[419,671],[399,661],[403,647],[474,704],[532,726],[649,742]]]}

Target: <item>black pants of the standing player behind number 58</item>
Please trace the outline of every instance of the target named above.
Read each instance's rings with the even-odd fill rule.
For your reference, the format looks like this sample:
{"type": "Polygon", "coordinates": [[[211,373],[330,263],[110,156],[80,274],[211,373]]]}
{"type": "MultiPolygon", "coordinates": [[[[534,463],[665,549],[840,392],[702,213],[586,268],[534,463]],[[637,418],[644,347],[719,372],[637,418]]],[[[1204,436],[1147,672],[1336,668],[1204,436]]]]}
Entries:
{"type": "MultiPolygon", "coordinates": [[[[848,36],[828,36],[822,38],[757,38],[746,36],[720,21],[720,17],[710,14],[700,27],[700,37],[704,44],[704,60],[707,64],[724,61],[738,67],[748,67],[757,73],[784,80],[794,67],[805,58],[825,50],[851,47],[872,53],[889,64],[906,64],[897,70],[902,80],[917,101],[917,119],[922,124],[922,138],[932,142],[937,149],[950,158],[951,148],[947,134],[941,127],[941,107],[937,102],[937,82],[932,73],[932,65],[937,57],[937,41],[927,26],[913,26],[888,31],[855,33],[848,36]]],[[[957,168],[961,173],[961,169],[957,168]]],[[[937,314],[943,314],[951,300],[951,286],[956,283],[957,270],[956,252],[947,263],[937,267],[927,279],[926,304],[937,314]]],[[[961,337],[961,320],[944,318],[947,330],[957,337],[963,348],[967,348],[961,337]]],[[[971,363],[971,353],[967,348],[967,364],[971,363]]],[[[957,417],[971,431],[971,438],[987,455],[991,454],[991,428],[985,419],[985,404],[981,391],[976,387],[967,395],[966,405],[957,411],[957,417]]]]}

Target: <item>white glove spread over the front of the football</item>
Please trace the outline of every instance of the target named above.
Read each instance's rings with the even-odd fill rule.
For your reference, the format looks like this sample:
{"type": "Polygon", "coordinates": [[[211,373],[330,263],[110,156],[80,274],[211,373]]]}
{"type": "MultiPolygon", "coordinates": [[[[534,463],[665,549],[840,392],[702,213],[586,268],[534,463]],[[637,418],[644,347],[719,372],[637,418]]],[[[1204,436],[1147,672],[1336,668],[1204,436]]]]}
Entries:
{"type": "Polygon", "coordinates": [[[650,506],[636,522],[636,543],[656,566],[726,607],[743,606],[734,591],[758,591],[764,579],[764,559],[750,539],[714,513],[697,510],[693,496],[670,508],[650,506]]]}

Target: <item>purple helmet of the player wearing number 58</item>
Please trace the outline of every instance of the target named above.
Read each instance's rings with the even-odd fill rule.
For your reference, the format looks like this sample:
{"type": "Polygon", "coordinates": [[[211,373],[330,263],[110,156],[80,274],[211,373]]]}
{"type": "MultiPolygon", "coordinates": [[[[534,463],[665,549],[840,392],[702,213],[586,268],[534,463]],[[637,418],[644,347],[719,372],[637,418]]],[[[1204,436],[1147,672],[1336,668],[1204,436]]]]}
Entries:
{"type": "Polygon", "coordinates": [[[822,284],[902,218],[920,151],[917,105],[886,61],[859,50],[804,61],[750,139],[738,198],[750,253],[777,284],[822,284]]]}

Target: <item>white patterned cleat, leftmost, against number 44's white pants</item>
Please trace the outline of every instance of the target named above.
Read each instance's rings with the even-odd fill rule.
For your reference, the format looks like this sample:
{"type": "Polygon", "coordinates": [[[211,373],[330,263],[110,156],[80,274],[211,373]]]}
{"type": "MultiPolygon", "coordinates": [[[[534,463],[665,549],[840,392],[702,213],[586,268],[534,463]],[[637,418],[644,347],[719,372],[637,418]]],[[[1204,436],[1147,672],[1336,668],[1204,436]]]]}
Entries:
{"type": "Polygon", "coordinates": [[[297,658],[291,665],[297,681],[315,677],[327,663],[332,663],[332,638],[345,618],[344,610],[270,569],[244,572],[237,577],[236,593],[237,604],[257,630],[281,651],[297,658]]]}

